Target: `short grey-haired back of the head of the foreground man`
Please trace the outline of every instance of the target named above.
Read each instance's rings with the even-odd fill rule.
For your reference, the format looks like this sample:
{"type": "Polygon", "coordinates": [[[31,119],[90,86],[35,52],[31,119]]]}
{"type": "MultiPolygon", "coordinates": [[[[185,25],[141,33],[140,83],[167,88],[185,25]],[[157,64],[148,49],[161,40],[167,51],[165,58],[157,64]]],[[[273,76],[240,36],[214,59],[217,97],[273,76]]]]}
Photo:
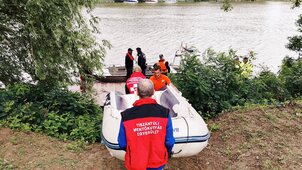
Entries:
{"type": "Polygon", "coordinates": [[[149,79],[142,79],[137,85],[137,94],[140,98],[151,97],[154,94],[154,85],[149,79]]]}

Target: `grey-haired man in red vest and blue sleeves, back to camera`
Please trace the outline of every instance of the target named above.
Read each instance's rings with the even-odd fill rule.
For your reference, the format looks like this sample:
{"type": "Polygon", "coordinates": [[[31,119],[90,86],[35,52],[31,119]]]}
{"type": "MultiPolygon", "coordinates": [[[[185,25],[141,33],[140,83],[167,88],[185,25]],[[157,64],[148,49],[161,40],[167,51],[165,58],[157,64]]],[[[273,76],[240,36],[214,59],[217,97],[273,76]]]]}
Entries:
{"type": "Polygon", "coordinates": [[[119,147],[126,151],[128,170],[161,170],[171,156],[175,143],[169,109],[151,96],[153,83],[142,79],[137,88],[139,100],[121,113],[119,147]]]}

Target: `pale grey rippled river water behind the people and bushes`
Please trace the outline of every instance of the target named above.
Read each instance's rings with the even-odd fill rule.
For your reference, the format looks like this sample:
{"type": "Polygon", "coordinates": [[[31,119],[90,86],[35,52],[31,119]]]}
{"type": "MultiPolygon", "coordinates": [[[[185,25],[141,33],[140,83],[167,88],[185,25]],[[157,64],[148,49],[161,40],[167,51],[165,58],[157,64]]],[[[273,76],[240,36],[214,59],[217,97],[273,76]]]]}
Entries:
{"type": "Polygon", "coordinates": [[[254,64],[265,64],[277,72],[282,58],[296,55],[287,50],[287,37],[297,35],[295,25],[301,8],[291,9],[289,2],[234,3],[224,12],[217,3],[181,4],[100,4],[94,15],[101,18],[101,34],[113,45],[105,64],[123,65],[127,49],[141,47],[147,63],[159,54],[173,60],[182,42],[201,52],[238,50],[245,55],[257,53],[254,64]]]}

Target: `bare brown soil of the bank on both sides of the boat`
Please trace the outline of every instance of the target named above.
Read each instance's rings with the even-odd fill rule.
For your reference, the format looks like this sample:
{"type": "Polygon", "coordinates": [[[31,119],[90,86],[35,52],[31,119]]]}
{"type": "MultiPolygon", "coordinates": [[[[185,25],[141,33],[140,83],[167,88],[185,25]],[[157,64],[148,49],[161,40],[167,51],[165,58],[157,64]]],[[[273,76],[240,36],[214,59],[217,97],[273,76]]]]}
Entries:
{"type": "MultiPolygon", "coordinates": [[[[213,132],[201,153],[172,158],[165,169],[302,169],[301,105],[244,108],[222,114],[208,122],[208,127],[213,132]]],[[[62,142],[2,128],[0,169],[10,167],[125,169],[123,162],[111,157],[104,145],[62,142]]]]}

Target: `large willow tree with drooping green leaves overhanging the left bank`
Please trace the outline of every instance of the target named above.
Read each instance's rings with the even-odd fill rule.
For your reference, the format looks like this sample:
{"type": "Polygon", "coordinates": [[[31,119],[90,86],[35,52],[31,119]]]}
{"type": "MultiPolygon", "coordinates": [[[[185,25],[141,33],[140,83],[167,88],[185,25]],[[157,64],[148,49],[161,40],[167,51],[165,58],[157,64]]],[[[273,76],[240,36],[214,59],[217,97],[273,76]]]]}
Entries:
{"type": "Polygon", "coordinates": [[[0,82],[22,82],[27,73],[35,82],[70,83],[81,65],[100,70],[110,44],[92,35],[96,2],[0,0],[0,82]]]}

